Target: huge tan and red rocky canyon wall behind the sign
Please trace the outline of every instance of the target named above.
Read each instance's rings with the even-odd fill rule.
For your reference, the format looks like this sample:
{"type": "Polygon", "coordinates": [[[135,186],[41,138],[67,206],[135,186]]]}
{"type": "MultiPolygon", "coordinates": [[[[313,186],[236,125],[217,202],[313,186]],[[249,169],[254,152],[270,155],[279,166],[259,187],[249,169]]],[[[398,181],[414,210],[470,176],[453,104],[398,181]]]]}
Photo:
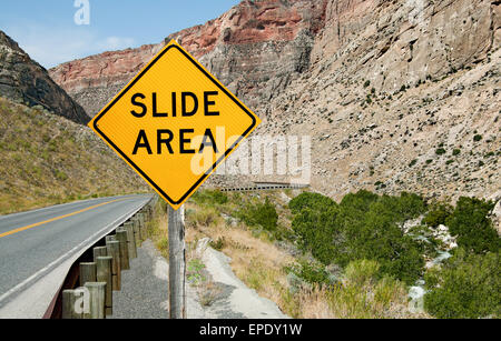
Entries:
{"type": "MultiPolygon", "coordinates": [[[[501,197],[498,0],[242,1],[176,39],[264,119],[312,136],[312,184],[501,197]]],[[[95,114],[164,43],[50,70],[95,114]]]]}

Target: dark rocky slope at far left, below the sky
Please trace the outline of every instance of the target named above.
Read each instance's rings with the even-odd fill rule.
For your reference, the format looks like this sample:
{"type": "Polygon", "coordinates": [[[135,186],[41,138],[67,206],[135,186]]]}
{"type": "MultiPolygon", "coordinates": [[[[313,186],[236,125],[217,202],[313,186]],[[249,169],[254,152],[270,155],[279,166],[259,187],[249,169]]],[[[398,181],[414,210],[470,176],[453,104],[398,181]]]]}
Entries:
{"type": "Polygon", "coordinates": [[[88,116],[47,73],[6,33],[0,31],[0,96],[41,106],[58,116],[87,123],[88,116]]]}

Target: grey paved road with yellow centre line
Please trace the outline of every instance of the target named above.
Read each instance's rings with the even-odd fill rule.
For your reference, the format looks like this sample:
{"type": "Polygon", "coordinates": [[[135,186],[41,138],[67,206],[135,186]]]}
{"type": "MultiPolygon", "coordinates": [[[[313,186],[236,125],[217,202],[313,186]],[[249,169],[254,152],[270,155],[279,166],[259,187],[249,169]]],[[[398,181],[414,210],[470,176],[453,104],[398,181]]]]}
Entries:
{"type": "MultiPolygon", "coordinates": [[[[150,198],[99,198],[0,217],[0,318],[28,313],[11,315],[9,305],[56,269],[68,265],[70,259],[128,219],[150,198]]],[[[58,278],[63,274],[65,271],[59,271],[57,278],[24,294],[24,301],[33,299],[40,305],[35,311],[37,302],[31,302],[28,317],[39,317],[49,293],[59,289],[58,278]],[[46,288],[53,285],[57,288],[46,288]]],[[[29,307],[29,302],[19,302],[17,309],[21,303],[29,307]]]]}

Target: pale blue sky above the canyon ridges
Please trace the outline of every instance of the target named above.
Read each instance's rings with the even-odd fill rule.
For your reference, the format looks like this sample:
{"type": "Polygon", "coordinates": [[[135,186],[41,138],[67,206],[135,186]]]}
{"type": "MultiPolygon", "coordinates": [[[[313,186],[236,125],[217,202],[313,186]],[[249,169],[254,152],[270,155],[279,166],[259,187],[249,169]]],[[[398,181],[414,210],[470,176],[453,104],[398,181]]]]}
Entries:
{"type": "Polygon", "coordinates": [[[45,68],[104,51],[158,43],[215,19],[239,0],[9,0],[0,30],[45,68]],[[88,11],[87,11],[88,9],[88,11]]]}

